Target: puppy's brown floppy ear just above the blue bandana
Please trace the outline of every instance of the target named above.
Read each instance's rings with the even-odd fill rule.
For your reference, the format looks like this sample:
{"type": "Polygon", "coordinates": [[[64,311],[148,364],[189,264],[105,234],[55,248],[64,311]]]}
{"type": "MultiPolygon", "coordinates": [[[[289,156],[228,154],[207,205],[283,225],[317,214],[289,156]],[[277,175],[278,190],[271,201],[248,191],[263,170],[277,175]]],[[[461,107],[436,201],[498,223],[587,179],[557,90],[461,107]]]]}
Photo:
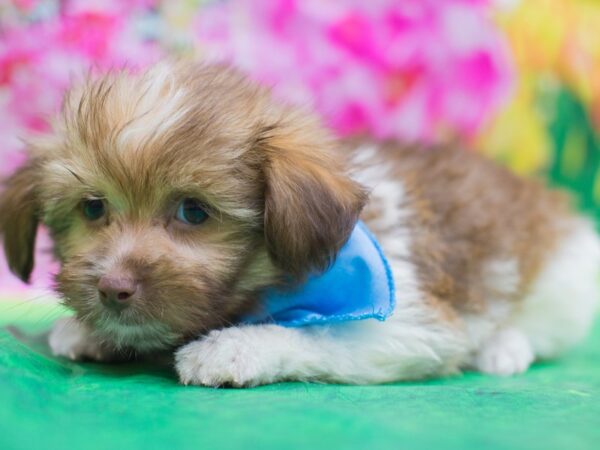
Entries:
{"type": "Polygon", "coordinates": [[[331,139],[310,120],[265,128],[259,145],[272,260],[296,279],[325,270],[348,240],[366,191],[348,177],[331,139]]]}

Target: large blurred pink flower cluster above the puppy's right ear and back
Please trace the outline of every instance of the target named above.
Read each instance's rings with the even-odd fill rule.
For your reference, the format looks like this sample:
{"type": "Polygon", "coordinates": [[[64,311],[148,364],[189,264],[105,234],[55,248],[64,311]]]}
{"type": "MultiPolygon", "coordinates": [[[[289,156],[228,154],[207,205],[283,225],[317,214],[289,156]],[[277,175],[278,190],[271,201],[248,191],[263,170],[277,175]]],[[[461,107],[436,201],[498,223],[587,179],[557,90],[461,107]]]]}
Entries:
{"type": "Polygon", "coordinates": [[[198,42],[341,135],[473,135],[508,96],[504,42],[484,0],[231,0],[198,42]]]}

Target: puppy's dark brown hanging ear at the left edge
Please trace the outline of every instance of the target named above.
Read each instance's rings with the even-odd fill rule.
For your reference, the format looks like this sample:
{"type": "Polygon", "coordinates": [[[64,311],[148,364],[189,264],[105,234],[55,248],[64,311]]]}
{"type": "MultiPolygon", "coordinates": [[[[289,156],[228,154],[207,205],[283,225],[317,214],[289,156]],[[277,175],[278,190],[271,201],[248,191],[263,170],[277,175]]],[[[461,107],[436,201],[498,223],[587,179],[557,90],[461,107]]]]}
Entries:
{"type": "Polygon", "coordinates": [[[10,270],[29,281],[33,270],[35,236],[38,228],[36,180],[39,166],[31,160],[4,183],[0,194],[0,235],[10,270]]]}

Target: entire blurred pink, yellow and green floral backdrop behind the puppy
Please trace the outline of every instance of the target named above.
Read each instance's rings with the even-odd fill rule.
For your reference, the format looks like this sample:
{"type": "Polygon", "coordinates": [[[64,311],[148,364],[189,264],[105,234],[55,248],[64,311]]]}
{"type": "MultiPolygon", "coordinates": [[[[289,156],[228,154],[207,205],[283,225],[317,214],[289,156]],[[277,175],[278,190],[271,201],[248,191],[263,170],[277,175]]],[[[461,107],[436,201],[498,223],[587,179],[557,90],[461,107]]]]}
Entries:
{"type": "MultiPolygon", "coordinates": [[[[0,176],[87,72],[225,60],[339,135],[459,140],[600,218],[595,0],[0,0],[0,176]]],[[[53,270],[40,239],[34,287],[53,270]]],[[[0,294],[23,289],[0,263],[0,294]]]]}

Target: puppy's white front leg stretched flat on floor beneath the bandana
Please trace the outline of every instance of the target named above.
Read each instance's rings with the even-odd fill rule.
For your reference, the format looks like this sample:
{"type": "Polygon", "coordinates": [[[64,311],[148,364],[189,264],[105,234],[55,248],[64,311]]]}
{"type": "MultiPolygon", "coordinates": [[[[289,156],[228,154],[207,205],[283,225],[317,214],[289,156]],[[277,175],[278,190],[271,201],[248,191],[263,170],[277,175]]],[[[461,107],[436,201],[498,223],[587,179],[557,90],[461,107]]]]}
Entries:
{"type": "Polygon", "coordinates": [[[185,384],[256,386],[283,380],[384,383],[456,372],[467,345],[415,311],[331,326],[253,325],[213,331],[177,351],[185,384]],[[412,314],[412,315],[411,315],[412,314]]]}

